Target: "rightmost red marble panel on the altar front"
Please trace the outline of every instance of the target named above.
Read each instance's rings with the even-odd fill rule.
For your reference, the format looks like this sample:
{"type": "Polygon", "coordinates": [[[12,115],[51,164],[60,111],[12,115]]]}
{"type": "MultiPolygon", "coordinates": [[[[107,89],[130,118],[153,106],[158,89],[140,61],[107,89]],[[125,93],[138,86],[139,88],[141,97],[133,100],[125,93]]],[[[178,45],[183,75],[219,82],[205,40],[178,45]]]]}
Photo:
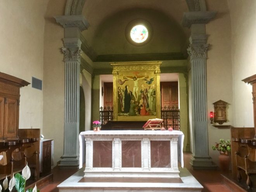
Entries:
{"type": "Polygon", "coordinates": [[[150,157],[152,168],[170,168],[170,141],[150,141],[150,157]]]}

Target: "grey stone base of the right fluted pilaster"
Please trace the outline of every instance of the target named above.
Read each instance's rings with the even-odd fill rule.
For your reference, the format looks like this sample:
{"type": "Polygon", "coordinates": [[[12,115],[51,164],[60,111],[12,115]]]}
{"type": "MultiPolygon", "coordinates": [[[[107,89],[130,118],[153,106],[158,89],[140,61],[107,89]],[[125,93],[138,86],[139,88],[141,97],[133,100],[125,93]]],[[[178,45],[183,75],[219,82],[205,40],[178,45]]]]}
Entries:
{"type": "Polygon", "coordinates": [[[213,163],[211,157],[196,157],[190,159],[190,165],[193,170],[215,170],[217,165],[213,163]]]}

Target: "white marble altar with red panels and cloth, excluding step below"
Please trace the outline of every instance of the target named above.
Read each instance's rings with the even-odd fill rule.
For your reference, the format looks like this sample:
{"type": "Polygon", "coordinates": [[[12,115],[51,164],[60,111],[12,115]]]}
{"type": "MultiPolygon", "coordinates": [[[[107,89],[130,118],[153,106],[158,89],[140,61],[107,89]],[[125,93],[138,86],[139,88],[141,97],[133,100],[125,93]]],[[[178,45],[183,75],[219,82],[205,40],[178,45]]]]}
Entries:
{"type": "Polygon", "coordinates": [[[80,133],[80,168],[85,162],[84,176],[90,178],[179,178],[183,139],[181,131],[84,131],[80,133]]]}

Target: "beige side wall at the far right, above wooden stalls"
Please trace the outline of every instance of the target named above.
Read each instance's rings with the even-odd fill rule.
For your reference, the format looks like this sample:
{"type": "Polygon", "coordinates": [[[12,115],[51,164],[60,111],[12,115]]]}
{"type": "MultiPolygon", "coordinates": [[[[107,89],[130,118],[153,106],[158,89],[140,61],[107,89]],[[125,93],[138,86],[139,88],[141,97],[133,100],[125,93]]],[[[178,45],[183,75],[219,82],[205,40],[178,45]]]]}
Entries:
{"type": "Polygon", "coordinates": [[[256,74],[256,1],[228,0],[231,17],[234,126],[253,127],[252,86],[244,78],[256,74]]]}

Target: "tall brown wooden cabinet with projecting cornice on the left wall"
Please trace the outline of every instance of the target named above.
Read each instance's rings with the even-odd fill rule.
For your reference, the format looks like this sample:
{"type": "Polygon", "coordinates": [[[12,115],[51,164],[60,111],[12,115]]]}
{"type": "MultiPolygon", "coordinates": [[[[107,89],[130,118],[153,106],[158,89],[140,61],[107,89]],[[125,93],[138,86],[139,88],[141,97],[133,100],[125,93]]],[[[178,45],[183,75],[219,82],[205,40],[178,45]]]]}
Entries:
{"type": "Polygon", "coordinates": [[[0,142],[18,139],[19,90],[29,84],[0,72],[0,142]]]}

